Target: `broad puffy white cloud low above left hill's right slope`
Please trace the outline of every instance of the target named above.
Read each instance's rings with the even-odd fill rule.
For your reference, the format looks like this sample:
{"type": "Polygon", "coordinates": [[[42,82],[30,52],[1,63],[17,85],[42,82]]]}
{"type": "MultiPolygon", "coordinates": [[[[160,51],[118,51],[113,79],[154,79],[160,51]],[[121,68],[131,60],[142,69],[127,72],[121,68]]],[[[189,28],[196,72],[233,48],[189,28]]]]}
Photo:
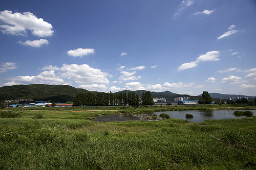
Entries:
{"type": "Polygon", "coordinates": [[[62,76],[69,80],[75,80],[80,84],[109,84],[106,78],[109,76],[107,72],[102,72],[100,69],[92,68],[87,64],[62,64],[60,68],[63,71],[62,76]]]}

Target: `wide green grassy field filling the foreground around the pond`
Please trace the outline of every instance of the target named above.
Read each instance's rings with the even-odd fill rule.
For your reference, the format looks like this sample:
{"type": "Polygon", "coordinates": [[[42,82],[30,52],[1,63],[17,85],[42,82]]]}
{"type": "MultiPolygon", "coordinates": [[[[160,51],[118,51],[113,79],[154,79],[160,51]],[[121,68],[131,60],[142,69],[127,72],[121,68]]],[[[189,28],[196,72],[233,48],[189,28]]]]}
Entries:
{"type": "Polygon", "coordinates": [[[161,107],[2,109],[19,114],[0,118],[0,169],[256,169],[255,117],[202,123],[88,119],[145,109],[161,107]]]}

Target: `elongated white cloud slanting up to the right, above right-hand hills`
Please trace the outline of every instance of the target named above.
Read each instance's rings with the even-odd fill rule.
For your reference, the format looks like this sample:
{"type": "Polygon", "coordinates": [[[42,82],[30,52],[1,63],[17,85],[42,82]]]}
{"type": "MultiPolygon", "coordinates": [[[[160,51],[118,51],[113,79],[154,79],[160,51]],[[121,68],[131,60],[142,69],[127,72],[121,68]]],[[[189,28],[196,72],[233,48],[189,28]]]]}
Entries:
{"type": "Polygon", "coordinates": [[[183,70],[187,68],[193,68],[196,67],[198,63],[205,62],[205,61],[218,61],[220,56],[219,51],[211,51],[207,52],[206,54],[200,55],[196,61],[190,62],[190,63],[183,63],[181,66],[178,67],[178,70],[183,70]]]}

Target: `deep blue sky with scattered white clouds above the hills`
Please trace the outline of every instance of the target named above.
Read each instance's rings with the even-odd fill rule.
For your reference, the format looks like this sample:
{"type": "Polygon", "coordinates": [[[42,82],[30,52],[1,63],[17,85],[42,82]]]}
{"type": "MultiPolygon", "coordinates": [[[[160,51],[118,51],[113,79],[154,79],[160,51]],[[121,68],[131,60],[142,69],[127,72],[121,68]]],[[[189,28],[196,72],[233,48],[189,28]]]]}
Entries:
{"type": "Polygon", "coordinates": [[[0,86],[256,96],[256,2],[3,1],[0,86]]]}

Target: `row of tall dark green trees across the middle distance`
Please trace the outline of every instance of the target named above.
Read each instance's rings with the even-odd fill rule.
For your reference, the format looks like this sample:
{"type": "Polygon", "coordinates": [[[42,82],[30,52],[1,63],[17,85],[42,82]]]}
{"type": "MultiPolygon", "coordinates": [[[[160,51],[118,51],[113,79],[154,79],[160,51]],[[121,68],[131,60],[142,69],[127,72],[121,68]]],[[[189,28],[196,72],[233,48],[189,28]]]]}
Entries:
{"type": "MultiPolygon", "coordinates": [[[[142,94],[143,105],[154,105],[153,97],[150,91],[142,94]]],[[[105,93],[105,92],[77,92],[73,106],[139,106],[140,98],[134,91],[105,93]]]]}

